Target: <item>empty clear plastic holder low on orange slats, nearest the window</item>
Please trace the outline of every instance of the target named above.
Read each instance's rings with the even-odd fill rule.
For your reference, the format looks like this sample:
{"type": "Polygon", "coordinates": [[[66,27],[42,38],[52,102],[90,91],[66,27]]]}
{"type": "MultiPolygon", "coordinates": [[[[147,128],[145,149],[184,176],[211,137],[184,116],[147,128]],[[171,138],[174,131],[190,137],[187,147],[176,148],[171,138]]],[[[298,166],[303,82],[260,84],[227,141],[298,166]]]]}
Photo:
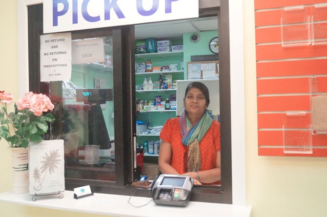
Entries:
{"type": "Polygon", "coordinates": [[[297,124],[307,115],[306,112],[286,113],[283,125],[284,154],[312,154],[311,125],[299,128],[297,124]]]}

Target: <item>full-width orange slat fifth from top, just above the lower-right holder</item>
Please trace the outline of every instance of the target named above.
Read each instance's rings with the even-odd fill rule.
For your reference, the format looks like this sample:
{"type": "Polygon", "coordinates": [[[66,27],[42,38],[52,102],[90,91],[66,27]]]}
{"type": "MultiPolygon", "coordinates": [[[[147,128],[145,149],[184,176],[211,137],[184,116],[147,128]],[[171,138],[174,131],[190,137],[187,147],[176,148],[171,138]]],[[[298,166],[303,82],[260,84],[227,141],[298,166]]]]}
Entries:
{"type": "Polygon", "coordinates": [[[327,59],[257,62],[257,77],[327,75],[327,59]]]}

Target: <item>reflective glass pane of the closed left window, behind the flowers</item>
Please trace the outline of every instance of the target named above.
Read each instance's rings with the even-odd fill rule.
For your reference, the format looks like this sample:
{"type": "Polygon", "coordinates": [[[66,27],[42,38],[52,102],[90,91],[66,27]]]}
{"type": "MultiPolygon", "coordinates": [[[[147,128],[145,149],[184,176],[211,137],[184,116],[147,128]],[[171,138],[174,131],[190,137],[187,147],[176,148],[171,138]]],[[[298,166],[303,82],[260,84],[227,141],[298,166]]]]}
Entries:
{"type": "Polygon", "coordinates": [[[115,181],[112,36],[74,39],[72,47],[94,39],[103,41],[103,59],[74,64],[74,55],[87,59],[95,53],[87,48],[72,52],[72,75],[62,81],[52,134],[64,139],[65,178],[115,181]]]}

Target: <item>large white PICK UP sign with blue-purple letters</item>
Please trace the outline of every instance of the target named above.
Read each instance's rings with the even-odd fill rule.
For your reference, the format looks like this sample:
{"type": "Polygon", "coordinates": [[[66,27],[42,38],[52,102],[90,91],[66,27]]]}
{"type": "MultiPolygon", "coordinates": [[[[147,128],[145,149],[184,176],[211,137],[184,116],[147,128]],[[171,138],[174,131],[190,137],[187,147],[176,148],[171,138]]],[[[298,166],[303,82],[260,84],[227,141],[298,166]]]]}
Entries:
{"type": "Polygon", "coordinates": [[[45,0],[44,33],[199,17],[199,0],[45,0]]]}

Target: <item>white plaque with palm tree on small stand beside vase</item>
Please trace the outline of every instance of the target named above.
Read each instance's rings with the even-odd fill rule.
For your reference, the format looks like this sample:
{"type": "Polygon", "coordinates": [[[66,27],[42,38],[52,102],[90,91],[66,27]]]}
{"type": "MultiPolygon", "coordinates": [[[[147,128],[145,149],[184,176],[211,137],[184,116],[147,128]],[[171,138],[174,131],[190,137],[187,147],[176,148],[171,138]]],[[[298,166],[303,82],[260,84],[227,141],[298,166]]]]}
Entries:
{"type": "Polygon", "coordinates": [[[29,194],[41,195],[65,190],[63,140],[30,143],[29,194]]]}

